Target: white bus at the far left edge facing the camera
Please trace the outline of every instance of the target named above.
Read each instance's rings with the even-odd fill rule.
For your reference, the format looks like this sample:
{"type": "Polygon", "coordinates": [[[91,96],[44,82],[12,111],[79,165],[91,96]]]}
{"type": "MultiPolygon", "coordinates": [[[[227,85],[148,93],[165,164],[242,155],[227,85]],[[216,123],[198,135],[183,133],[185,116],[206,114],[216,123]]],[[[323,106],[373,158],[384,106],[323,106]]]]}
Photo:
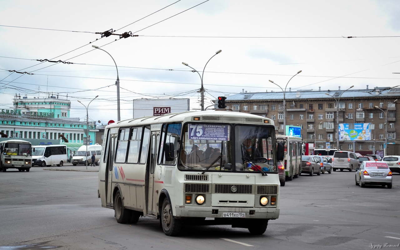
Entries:
{"type": "Polygon", "coordinates": [[[0,168],[6,172],[8,168],[29,172],[32,167],[32,146],[23,140],[6,140],[0,143],[0,168]]]}

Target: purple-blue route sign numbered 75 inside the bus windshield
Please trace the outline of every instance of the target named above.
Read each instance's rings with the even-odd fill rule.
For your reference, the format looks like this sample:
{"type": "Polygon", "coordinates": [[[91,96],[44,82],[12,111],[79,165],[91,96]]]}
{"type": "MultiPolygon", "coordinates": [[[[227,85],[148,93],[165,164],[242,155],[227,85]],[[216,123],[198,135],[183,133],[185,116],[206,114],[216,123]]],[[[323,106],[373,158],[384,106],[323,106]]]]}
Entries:
{"type": "Polygon", "coordinates": [[[228,125],[222,124],[189,124],[189,140],[227,141],[228,125]]]}

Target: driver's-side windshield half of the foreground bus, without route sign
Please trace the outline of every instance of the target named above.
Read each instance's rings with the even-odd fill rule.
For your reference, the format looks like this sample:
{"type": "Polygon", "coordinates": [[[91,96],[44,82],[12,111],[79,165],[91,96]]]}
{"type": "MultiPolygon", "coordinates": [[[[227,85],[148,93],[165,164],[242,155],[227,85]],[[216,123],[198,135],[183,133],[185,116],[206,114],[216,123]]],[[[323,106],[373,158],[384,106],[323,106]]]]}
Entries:
{"type": "Polygon", "coordinates": [[[274,131],[267,126],[235,126],[236,171],[277,172],[274,131]]]}

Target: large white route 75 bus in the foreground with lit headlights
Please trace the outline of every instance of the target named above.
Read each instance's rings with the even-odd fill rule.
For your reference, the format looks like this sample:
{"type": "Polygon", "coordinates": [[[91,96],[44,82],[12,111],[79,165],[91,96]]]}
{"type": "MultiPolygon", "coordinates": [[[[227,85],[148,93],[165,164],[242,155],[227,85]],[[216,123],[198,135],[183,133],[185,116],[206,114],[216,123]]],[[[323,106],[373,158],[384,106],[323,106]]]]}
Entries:
{"type": "Polygon", "coordinates": [[[273,120],[226,111],[110,124],[99,167],[102,207],[114,209],[119,223],[159,219],[168,236],[184,222],[263,234],[280,212],[276,151],[283,159],[284,149],[274,132],[273,120]]]}

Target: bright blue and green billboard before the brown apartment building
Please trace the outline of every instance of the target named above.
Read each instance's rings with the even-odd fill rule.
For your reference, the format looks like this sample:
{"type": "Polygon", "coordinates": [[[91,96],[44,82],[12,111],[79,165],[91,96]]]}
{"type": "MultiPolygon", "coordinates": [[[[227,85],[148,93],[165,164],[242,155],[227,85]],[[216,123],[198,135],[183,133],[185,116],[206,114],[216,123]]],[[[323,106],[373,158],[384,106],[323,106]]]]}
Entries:
{"type": "Polygon", "coordinates": [[[371,140],[370,123],[354,123],[350,128],[348,123],[339,124],[340,141],[368,141],[371,140]]]}

